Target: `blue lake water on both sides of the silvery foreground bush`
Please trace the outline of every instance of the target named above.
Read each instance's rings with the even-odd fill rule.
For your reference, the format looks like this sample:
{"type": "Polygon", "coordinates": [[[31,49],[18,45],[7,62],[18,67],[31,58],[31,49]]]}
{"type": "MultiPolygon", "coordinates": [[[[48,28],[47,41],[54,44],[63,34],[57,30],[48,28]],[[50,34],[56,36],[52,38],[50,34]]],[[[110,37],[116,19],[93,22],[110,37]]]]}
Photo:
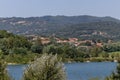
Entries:
{"type": "MultiPolygon", "coordinates": [[[[89,80],[98,77],[103,80],[115,70],[114,62],[66,63],[68,80],[89,80]]],[[[26,65],[9,65],[8,73],[15,80],[21,80],[26,65]]]]}

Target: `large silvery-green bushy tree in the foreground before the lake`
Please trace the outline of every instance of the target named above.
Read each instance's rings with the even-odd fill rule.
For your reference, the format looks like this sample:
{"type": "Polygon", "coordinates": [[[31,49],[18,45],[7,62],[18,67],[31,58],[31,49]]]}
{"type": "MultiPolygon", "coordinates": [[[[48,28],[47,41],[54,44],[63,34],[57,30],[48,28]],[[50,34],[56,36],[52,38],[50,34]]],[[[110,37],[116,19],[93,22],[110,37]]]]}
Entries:
{"type": "Polygon", "coordinates": [[[27,67],[23,80],[66,80],[63,63],[57,55],[43,54],[27,67]]]}

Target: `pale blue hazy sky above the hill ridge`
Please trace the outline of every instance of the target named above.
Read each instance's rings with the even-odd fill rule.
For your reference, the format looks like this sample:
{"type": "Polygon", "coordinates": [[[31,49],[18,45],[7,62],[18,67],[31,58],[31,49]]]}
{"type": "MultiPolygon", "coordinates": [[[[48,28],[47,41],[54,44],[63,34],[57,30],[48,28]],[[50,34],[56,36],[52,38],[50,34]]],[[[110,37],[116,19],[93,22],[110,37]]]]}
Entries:
{"type": "Polygon", "coordinates": [[[0,17],[46,15],[111,16],[120,19],[120,0],[0,0],[0,17]]]}

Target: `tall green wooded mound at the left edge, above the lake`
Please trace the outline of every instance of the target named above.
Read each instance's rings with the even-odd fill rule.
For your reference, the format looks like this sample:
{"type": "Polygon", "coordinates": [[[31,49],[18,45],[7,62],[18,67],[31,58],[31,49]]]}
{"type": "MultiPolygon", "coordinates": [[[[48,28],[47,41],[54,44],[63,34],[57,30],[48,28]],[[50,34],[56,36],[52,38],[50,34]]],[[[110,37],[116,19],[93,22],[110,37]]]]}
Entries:
{"type": "Polygon", "coordinates": [[[8,63],[27,63],[34,59],[31,46],[32,43],[23,36],[0,31],[0,54],[8,63]]]}

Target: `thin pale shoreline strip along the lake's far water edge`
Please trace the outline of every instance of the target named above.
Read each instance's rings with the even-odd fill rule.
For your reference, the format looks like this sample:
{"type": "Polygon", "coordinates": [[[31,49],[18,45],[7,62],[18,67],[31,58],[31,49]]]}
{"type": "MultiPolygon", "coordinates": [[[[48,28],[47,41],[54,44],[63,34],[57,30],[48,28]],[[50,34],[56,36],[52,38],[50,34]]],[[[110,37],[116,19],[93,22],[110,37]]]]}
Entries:
{"type": "MultiPolygon", "coordinates": [[[[17,63],[17,62],[6,62],[7,65],[21,65],[21,64],[30,64],[32,61],[28,61],[26,63],[17,63]]],[[[100,57],[94,57],[94,58],[76,58],[76,59],[63,59],[63,63],[89,63],[89,62],[120,62],[119,59],[111,59],[111,58],[100,58],[100,57]]]]}

